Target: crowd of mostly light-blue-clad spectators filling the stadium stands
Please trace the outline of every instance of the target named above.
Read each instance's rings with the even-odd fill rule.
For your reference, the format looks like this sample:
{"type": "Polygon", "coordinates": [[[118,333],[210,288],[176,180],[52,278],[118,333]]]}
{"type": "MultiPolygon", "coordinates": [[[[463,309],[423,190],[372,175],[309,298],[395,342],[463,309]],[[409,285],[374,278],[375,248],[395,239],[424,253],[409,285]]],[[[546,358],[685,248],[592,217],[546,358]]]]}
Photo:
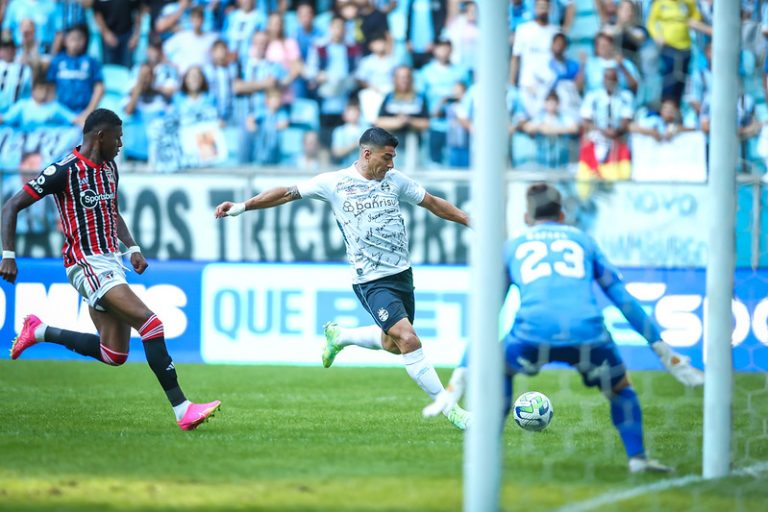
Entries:
{"type": "MultiPolygon", "coordinates": [[[[360,133],[380,126],[405,141],[401,158],[466,168],[481,4],[0,0],[0,122],[81,125],[106,106],[125,119],[128,159],[147,160],[152,123],[171,117],[214,123],[228,164],[312,171],[351,163],[360,133]]],[[[510,0],[510,164],[573,168],[585,151],[627,157],[631,133],[706,134],[712,9],[510,0]]],[[[741,157],[763,172],[768,3],[743,0],[741,12],[741,157]]]]}

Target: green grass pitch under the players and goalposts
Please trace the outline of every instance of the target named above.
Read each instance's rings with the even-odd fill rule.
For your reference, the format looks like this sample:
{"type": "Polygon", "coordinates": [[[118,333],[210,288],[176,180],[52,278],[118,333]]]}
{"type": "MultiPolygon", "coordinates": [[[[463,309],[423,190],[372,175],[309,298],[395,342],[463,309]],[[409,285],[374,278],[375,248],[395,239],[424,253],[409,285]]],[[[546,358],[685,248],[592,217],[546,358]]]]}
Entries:
{"type": "MultiPolygon", "coordinates": [[[[194,432],[176,427],[146,365],[0,361],[0,510],[461,509],[462,433],[421,417],[427,399],[402,369],[179,365],[179,374],[193,400],[223,402],[194,432]]],[[[628,475],[605,400],[573,372],[545,371],[515,383],[516,395],[549,395],[555,417],[540,434],[507,424],[502,509],[557,510],[700,473],[702,390],[664,373],[633,380],[648,448],[675,474],[628,475]]],[[[765,375],[737,375],[734,411],[735,465],[767,460],[765,375]]],[[[766,499],[761,473],[594,510],[764,510],[766,499]]]]}

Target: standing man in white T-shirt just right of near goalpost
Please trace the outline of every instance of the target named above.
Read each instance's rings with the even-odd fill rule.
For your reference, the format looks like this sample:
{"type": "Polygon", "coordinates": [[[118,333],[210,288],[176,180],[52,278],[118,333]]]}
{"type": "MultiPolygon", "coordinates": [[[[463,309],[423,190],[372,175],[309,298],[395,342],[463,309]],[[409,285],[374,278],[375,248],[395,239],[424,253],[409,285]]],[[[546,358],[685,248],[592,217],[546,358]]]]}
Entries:
{"type": "Polygon", "coordinates": [[[534,19],[523,23],[515,34],[512,60],[509,67],[509,83],[535,94],[536,67],[549,60],[552,38],[559,32],[549,24],[549,0],[536,0],[534,19]]]}

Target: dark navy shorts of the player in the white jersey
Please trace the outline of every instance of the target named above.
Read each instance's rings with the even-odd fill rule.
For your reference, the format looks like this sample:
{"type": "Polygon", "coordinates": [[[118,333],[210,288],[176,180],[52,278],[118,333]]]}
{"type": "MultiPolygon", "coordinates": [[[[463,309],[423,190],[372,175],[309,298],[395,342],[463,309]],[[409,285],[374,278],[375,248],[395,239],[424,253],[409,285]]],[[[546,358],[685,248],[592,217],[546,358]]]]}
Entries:
{"type": "Polygon", "coordinates": [[[352,289],[382,331],[389,331],[403,318],[413,324],[416,301],[413,298],[413,272],[410,268],[375,281],[354,284],[352,289]]]}

